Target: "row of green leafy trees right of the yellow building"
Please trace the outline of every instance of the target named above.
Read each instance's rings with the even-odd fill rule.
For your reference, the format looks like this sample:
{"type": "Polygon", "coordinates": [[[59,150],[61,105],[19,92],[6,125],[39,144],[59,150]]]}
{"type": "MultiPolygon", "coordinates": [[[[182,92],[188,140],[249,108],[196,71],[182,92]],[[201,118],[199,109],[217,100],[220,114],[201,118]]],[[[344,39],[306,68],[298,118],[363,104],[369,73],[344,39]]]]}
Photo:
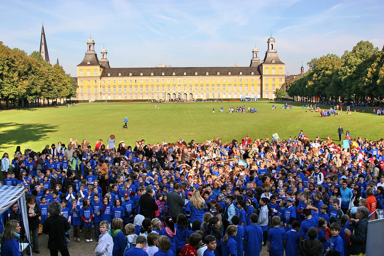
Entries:
{"type": "Polygon", "coordinates": [[[358,42],[341,58],[327,54],[307,63],[309,70],[287,85],[301,101],[379,102],[384,98],[384,46],[358,42]]]}

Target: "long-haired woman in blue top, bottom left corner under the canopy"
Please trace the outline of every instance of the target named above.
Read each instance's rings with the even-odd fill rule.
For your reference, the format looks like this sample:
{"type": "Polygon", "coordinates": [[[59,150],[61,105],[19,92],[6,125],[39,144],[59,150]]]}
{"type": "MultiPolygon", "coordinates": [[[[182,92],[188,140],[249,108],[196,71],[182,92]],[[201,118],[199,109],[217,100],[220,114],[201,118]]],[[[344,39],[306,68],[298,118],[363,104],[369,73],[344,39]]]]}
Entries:
{"type": "Polygon", "coordinates": [[[20,252],[20,230],[18,221],[12,219],[5,224],[3,238],[1,239],[0,252],[2,256],[21,256],[20,252]]]}

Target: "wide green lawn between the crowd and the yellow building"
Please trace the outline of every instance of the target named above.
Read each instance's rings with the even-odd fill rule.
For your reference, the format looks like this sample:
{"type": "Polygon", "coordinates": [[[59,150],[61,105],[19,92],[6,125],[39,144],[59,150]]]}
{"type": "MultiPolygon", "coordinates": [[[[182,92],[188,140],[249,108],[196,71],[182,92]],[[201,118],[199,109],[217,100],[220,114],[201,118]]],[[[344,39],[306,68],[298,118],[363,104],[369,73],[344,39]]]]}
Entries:
{"type": "Polygon", "coordinates": [[[229,114],[230,106],[243,105],[240,101],[160,103],[160,109],[156,110],[154,103],[83,103],[70,108],[0,111],[0,152],[1,155],[3,152],[13,154],[18,145],[22,150],[41,151],[46,144],[58,141],[67,144],[69,138],[79,142],[86,139],[94,146],[96,140],[106,141],[111,134],[116,136],[116,141],[124,140],[127,145],[134,145],[134,141],[139,139],[155,143],[163,139],[174,142],[182,137],[187,142],[214,137],[223,141],[240,140],[246,135],[252,139],[271,138],[276,132],[280,138],[288,138],[297,136],[300,130],[310,139],[315,136],[326,138],[327,135],[336,138],[339,125],[343,125],[344,132],[349,130],[352,137],[382,137],[384,116],[373,116],[371,108],[366,113],[347,115],[343,111],[341,116],[321,118],[318,113],[301,109],[299,103],[291,110],[282,110],[281,104],[266,101],[245,103],[246,109],[248,106],[256,107],[257,114],[229,114]],[[278,105],[276,110],[271,109],[273,104],[278,105]],[[223,113],[219,112],[220,106],[224,107],[223,113]],[[213,107],[216,113],[211,113],[213,107]],[[126,116],[129,129],[122,129],[126,116]]]}

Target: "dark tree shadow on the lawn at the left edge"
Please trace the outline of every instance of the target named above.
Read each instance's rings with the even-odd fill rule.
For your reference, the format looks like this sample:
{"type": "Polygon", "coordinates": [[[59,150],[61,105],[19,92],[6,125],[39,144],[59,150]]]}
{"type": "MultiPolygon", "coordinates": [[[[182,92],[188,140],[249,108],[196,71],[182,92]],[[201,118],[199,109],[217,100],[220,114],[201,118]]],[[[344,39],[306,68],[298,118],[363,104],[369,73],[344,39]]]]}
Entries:
{"type": "MultiPolygon", "coordinates": [[[[56,128],[48,124],[34,123],[0,123],[3,131],[0,133],[0,148],[14,147],[27,144],[30,141],[46,139],[47,133],[56,131],[56,128]]],[[[35,149],[37,151],[43,149],[35,149]]],[[[13,154],[12,154],[13,155],[13,154]]]]}

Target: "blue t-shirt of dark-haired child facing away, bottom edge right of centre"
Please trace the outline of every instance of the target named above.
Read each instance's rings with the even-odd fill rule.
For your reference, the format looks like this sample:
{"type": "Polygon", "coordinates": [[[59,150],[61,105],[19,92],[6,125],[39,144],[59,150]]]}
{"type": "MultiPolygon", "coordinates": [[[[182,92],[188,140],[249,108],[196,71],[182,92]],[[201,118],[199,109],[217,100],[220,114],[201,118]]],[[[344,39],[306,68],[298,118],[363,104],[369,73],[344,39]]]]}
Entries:
{"type": "Polygon", "coordinates": [[[263,243],[263,230],[257,224],[250,224],[244,230],[244,256],[258,256],[263,243]]]}

